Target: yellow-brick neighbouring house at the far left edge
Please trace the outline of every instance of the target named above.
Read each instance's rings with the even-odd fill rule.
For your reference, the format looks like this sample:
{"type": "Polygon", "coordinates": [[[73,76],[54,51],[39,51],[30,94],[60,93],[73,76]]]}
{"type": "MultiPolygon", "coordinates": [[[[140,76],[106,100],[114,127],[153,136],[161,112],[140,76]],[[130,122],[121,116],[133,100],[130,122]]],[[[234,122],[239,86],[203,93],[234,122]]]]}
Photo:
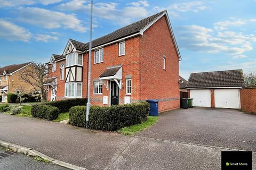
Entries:
{"type": "Polygon", "coordinates": [[[0,92],[2,96],[1,102],[7,102],[7,94],[16,94],[20,90],[20,86],[25,88],[25,92],[33,92],[34,88],[29,83],[20,78],[20,71],[30,67],[33,62],[7,65],[0,68],[0,92]]]}

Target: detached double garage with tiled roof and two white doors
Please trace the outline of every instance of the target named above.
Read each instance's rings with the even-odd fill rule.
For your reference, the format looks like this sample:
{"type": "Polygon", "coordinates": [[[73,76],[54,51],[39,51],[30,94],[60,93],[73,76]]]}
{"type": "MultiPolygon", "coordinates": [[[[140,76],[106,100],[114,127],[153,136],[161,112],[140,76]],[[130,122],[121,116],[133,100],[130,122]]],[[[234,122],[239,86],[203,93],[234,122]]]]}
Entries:
{"type": "Polygon", "coordinates": [[[186,87],[193,106],[239,109],[243,86],[243,70],[227,70],[192,73],[186,87]]]}

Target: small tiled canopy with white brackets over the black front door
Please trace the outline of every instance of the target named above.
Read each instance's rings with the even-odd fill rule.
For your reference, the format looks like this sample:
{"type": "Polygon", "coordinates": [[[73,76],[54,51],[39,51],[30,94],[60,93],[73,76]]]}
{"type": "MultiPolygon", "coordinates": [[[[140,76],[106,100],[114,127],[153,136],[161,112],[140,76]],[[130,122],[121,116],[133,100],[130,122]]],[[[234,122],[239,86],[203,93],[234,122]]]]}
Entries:
{"type": "Polygon", "coordinates": [[[108,67],[105,71],[103,71],[103,73],[101,73],[100,80],[103,82],[107,89],[109,86],[108,80],[114,80],[117,83],[119,89],[122,89],[122,66],[118,65],[108,67]],[[118,82],[118,80],[120,80],[120,82],[118,82]]]}

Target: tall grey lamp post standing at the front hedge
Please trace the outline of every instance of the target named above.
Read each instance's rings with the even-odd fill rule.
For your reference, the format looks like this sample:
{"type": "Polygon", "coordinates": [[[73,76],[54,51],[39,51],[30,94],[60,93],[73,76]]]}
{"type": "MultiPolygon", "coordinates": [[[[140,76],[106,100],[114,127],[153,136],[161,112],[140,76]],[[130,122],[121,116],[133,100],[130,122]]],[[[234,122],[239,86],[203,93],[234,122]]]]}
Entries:
{"type": "Polygon", "coordinates": [[[89,114],[90,114],[90,107],[91,107],[91,58],[92,58],[92,6],[93,0],[91,0],[91,20],[90,20],[90,44],[89,44],[89,66],[88,66],[88,89],[87,89],[87,105],[86,105],[86,123],[85,128],[89,128],[89,114]]]}

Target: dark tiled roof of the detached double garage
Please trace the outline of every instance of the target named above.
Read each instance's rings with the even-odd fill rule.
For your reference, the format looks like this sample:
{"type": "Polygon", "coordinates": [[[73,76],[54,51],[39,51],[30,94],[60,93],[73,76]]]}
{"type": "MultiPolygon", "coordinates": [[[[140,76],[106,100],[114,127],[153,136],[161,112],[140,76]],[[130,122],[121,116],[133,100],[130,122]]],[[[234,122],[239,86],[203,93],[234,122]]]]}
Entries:
{"type": "Polygon", "coordinates": [[[191,73],[187,88],[243,87],[243,70],[191,73]]]}

